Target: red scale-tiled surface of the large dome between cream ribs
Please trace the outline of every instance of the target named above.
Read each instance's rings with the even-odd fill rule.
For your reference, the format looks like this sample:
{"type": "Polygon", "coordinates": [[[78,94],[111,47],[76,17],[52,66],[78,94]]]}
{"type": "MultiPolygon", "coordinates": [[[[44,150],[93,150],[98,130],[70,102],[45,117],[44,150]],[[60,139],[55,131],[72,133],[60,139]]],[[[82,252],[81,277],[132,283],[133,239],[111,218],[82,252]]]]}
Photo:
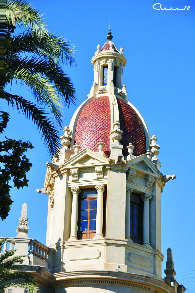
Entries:
{"type": "MultiPolygon", "coordinates": [[[[127,145],[131,142],[135,149],[133,155],[139,156],[146,152],[146,137],[142,122],[135,110],[124,100],[117,98],[119,109],[120,129],[123,131],[122,154],[128,155],[127,145]]],[[[97,142],[102,139],[105,143],[104,152],[110,155],[110,101],[108,96],[101,96],[90,100],[80,113],[75,130],[75,142],[81,150],[88,148],[98,151],[97,142]]]]}

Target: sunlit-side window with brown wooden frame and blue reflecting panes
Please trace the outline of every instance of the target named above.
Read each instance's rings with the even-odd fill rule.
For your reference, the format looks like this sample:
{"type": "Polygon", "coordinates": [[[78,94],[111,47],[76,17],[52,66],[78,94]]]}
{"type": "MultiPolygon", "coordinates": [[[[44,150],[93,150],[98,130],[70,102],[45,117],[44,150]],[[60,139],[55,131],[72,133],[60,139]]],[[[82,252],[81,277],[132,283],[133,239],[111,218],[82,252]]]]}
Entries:
{"type": "MultiPolygon", "coordinates": [[[[106,192],[103,194],[103,226],[105,236],[106,192]]],[[[96,233],[97,190],[95,188],[82,189],[78,206],[78,239],[91,239],[96,233]]]]}

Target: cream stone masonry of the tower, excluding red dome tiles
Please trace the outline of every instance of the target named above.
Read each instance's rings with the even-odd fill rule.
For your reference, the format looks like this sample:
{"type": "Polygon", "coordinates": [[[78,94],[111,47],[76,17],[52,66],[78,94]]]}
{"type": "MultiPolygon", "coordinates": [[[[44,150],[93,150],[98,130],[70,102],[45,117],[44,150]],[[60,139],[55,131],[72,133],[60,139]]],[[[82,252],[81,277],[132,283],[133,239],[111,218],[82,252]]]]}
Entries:
{"type": "MultiPolygon", "coordinates": [[[[28,238],[27,207],[23,205],[18,235],[9,238],[4,249],[14,245],[17,253],[28,254],[23,267],[36,274],[40,293],[183,293],[185,288],[174,278],[170,249],[165,279],[162,279],[161,269],[164,258],[161,253],[161,193],[165,183],[176,176],[160,172],[157,138],[150,137],[142,116],[128,101],[126,86],[122,85],[126,64],[123,48],[120,51],[115,48],[110,31],[107,37],[108,41],[102,49],[97,46],[91,60],[94,82],[87,100],[78,107],[69,127],[64,128],[59,161],[54,159],[46,163],[44,188],[37,190],[49,197],[46,245],[28,238]],[[107,83],[103,85],[105,66],[107,83]],[[115,77],[114,67],[117,68],[115,77]],[[103,151],[102,139],[97,142],[98,151],[90,147],[82,149],[75,142],[82,110],[90,101],[102,96],[108,96],[110,102],[109,157],[103,151]],[[128,154],[123,152],[118,99],[130,105],[141,121],[146,147],[143,154],[134,155],[132,142],[126,147],[128,154]],[[85,192],[88,195],[93,192],[92,199],[85,197],[85,192]],[[91,217],[92,203],[82,209],[82,204],[88,205],[90,200],[96,203],[95,218],[91,217]],[[132,209],[138,206],[140,213],[136,214],[132,209]],[[88,215],[82,216],[85,211],[88,215]],[[137,217],[139,224],[136,224],[137,217]],[[95,229],[87,228],[84,221],[88,221],[89,227],[93,220],[95,229]],[[82,225],[85,230],[81,229],[82,225]],[[131,225],[134,232],[130,230],[131,225]],[[141,235],[140,243],[135,240],[136,229],[141,235]]],[[[87,141],[88,137],[83,136],[83,139],[87,141]]],[[[12,288],[14,292],[17,289],[12,288]]]]}

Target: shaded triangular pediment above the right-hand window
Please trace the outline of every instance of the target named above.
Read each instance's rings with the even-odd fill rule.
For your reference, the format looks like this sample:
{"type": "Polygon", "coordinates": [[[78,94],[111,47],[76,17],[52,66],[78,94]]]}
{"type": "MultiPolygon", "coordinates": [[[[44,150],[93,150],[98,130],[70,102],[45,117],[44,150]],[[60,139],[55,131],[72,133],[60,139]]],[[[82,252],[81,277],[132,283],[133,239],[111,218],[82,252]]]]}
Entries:
{"type": "Polygon", "coordinates": [[[150,172],[150,173],[154,173],[154,174],[158,174],[159,171],[157,170],[157,168],[154,166],[154,164],[147,158],[147,156],[141,155],[141,156],[137,156],[131,160],[128,161],[127,165],[129,166],[133,166],[136,167],[140,170],[146,171],[146,172],[150,172]]]}

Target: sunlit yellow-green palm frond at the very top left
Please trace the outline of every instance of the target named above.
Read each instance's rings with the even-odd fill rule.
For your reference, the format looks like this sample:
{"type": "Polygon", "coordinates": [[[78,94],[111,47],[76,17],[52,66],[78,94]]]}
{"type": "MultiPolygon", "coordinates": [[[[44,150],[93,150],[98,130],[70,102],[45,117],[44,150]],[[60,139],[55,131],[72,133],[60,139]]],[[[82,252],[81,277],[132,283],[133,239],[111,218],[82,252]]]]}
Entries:
{"type": "Polygon", "coordinates": [[[42,16],[32,4],[23,0],[7,0],[6,17],[8,24],[19,24],[31,28],[40,36],[47,34],[48,30],[43,22],[42,16]]]}

